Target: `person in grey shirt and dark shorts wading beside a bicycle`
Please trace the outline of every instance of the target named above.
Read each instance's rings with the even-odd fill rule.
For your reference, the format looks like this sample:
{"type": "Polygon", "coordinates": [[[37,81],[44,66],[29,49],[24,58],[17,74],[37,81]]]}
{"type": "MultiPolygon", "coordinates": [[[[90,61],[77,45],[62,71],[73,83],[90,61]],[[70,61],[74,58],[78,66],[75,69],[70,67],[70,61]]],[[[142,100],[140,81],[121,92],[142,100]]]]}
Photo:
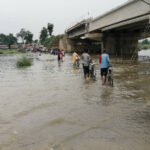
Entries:
{"type": "Polygon", "coordinates": [[[88,50],[84,50],[84,53],[82,54],[82,64],[83,64],[83,71],[84,71],[84,79],[86,80],[87,77],[89,77],[89,65],[91,57],[88,54],[88,50]]]}

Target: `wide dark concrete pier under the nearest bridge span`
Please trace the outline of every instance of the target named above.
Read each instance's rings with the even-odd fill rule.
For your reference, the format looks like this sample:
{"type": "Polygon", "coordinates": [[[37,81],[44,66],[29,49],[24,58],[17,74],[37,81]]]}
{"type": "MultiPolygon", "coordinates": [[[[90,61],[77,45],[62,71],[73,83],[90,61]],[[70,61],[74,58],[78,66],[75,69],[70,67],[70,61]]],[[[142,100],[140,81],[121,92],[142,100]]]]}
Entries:
{"type": "Polygon", "coordinates": [[[104,48],[110,55],[132,57],[138,55],[138,39],[139,33],[135,32],[107,33],[103,39],[104,48]]]}

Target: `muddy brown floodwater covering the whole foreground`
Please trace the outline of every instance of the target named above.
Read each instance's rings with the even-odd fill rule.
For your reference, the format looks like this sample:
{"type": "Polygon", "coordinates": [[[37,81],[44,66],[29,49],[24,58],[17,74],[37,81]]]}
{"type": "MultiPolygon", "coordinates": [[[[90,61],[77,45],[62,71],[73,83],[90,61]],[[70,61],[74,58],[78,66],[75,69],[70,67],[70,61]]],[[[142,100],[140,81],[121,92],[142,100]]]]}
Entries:
{"type": "Polygon", "coordinates": [[[111,59],[110,87],[98,65],[84,81],[69,55],[27,56],[0,56],[0,150],[150,150],[150,63],[111,59]]]}

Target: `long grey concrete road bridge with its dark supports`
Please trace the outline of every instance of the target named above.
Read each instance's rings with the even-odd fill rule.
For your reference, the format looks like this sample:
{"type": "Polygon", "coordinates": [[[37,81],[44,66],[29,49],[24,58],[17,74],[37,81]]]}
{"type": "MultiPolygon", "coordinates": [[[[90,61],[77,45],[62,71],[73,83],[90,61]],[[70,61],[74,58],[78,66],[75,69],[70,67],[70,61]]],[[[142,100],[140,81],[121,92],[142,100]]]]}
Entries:
{"type": "Polygon", "coordinates": [[[149,2],[130,0],[97,18],[77,23],[66,30],[67,50],[105,48],[112,55],[137,54],[138,40],[150,37],[149,2]]]}

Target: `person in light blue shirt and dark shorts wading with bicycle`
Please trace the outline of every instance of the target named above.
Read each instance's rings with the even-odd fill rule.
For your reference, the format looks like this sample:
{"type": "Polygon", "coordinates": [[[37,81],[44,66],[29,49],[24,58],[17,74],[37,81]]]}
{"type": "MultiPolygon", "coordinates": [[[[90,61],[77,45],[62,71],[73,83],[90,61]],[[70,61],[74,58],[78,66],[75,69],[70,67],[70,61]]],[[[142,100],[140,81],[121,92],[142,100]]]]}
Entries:
{"type": "Polygon", "coordinates": [[[106,53],[106,50],[103,50],[102,54],[100,55],[99,62],[101,68],[102,85],[104,85],[106,83],[106,77],[110,65],[109,55],[106,53]]]}

